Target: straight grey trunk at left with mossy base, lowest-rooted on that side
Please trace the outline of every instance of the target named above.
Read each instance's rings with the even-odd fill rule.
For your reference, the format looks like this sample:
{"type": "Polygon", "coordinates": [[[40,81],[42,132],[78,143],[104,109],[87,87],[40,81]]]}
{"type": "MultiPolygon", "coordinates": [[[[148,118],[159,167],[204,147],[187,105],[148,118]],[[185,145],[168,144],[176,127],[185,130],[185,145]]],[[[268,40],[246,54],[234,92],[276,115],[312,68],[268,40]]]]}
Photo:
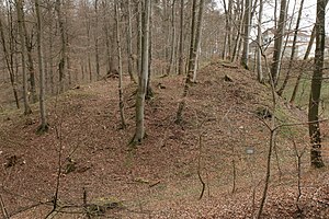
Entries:
{"type": "Polygon", "coordinates": [[[41,114],[41,125],[38,127],[39,132],[48,130],[48,124],[46,120],[46,107],[45,107],[45,71],[44,71],[44,60],[43,60],[43,43],[42,43],[42,21],[39,12],[39,2],[34,0],[35,13],[36,13],[36,44],[37,44],[37,60],[38,60],[38,72],[39,72],[39,114],[41,114]]]}

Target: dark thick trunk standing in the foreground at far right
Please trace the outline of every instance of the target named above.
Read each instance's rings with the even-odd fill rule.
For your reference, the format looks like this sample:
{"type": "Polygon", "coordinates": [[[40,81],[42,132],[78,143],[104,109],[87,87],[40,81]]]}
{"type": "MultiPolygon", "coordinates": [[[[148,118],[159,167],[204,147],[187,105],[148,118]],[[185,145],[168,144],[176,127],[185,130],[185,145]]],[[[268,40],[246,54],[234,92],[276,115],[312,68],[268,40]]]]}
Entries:
{"type": "Polygon", "coordinates": [[[319,105],[324,72],[324,51],[326,37],[325,10],[326,0],[317,0],[315,69],[311,78],[308,105],[308,129],[311,143],[310,164],[313,168],[322,168],[325,165],[321,155],[321,134],[319,124],[319,105]]]}

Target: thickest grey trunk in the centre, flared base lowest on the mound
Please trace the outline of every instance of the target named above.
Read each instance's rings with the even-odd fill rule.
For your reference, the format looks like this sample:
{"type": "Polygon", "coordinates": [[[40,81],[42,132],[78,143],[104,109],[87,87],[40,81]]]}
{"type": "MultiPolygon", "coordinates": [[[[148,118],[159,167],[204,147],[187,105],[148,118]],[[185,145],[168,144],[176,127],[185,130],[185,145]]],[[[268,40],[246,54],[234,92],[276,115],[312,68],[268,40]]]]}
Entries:
{"type": "MultiPolygon", "coordinates": [[[[136,96],[136,130],[132,143],[141,143],[145,138],[145,95],[148,80],[148,59],[149,59],[149,12],[150,0],[145,0],[143,4],[143,45],[141,45],[141,71],[138,78],[138,89],[136,96]]],[[[139,24],[140,25],[140,24],[139,24]]]]}

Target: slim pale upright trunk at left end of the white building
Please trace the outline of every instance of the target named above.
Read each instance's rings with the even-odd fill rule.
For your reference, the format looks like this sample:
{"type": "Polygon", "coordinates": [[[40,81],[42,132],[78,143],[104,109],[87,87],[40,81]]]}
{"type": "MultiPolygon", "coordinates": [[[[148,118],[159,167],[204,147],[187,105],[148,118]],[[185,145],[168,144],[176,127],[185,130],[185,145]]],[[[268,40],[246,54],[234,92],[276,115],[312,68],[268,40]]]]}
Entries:
{"type": "Polygon", "coordinates": [[[257,79],[259,82],[264,82],[263,70],[262,70],[262,15],[263,15],[263,0],[259,2],[259,14],[258,14],[258,35],[257,35],[257,79]]]}

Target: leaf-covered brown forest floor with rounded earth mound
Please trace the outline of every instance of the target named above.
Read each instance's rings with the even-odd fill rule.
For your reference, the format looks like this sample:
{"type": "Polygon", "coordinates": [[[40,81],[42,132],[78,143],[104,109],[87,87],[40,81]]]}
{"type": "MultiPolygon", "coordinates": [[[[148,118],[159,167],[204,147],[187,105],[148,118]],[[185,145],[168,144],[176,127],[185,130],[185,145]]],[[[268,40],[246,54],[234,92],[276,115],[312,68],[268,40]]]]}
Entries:
{"type": "MultiPolygon", "coordinates": [[[[256,217],[269,151],[270,87],[236,66],[209,64],[190,88],[177,125],[183,82],[177,76],[152,79],[147,138],[137,148],[128,147],[136,90],[128,78],[126,129],[120,126],[117,79],[49,99],[44,135],[36,134],[37,104],[27,117],[2,110],[0,217],[4,209],[12,219],[256,217]]],[[[305,112],[279,99],[274,115],[282,126],[262,218],[329,218],[329,170],[309,168],[306,125],[284,126],[307,120],[305,112]]],[[[328,164],[327,124],[321,128],[328,164]]]]}

